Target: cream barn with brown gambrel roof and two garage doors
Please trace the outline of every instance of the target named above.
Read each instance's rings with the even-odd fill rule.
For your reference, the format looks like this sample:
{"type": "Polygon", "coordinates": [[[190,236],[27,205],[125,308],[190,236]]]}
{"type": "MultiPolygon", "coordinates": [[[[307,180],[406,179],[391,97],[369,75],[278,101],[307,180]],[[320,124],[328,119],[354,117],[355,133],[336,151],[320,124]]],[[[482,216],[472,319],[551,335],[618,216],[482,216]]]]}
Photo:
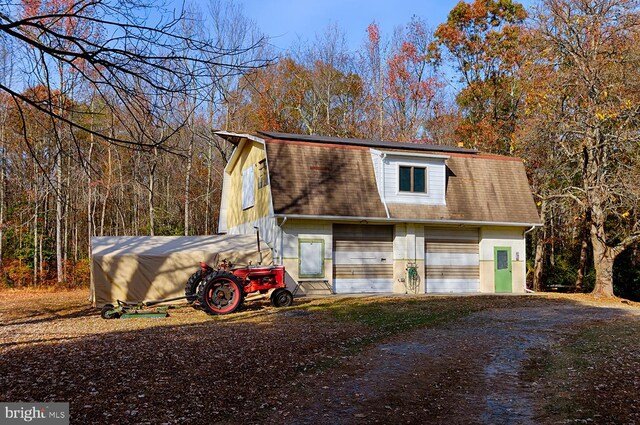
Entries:
{"type": "Polygon", "coordinates": [[[274,132],[235,146],[219,231],[260,230],[302,292],[525,292],[540,219],[522,160],[274,132]]]}

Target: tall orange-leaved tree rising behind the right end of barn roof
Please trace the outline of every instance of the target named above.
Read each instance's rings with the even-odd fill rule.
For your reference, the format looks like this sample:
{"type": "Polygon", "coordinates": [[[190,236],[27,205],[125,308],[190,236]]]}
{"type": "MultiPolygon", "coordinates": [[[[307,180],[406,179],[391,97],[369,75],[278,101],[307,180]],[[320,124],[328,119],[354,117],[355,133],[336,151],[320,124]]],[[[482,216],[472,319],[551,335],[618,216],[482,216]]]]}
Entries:
{"type": "Polygon", "coordinates": [[[434,53],[441,60],[450,57],[460,75],[457,102],[464,120],[457,133],[467,146],[512,151],[526,17],[524,7],[511,0],[461,1],[435,31],[434,53]]]}

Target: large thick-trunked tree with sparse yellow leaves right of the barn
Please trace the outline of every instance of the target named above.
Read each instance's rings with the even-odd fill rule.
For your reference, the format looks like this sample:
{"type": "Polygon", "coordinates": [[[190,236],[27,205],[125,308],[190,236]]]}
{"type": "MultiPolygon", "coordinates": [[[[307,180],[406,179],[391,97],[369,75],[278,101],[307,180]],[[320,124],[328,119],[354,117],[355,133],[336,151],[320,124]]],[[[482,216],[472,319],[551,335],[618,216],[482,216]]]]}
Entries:
{"type": "Polygon", "coordinates": [[[639,17],[637,0],[546,0],[533,33],[525,125],[545,140],[555,129],[553,145],[539,145],[559,159],[548,197],[585,216],[596,295],[613,295],[614,260],[640,241],[639,17]]]}

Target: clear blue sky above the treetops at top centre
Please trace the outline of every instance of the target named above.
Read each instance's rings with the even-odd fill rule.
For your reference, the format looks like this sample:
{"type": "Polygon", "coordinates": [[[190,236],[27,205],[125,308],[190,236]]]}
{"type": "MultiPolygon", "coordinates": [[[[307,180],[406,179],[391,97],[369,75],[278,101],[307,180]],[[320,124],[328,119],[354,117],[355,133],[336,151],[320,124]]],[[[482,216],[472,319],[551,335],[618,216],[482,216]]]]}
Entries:
{"type": "MultiPolygon", "coordinates": [[[[298,37],[313,40],[329,24],[337,24],[347,37],[351,50],[358,48],[366,28],[376,21],[383,35],[409,22],[413,15],[435,28],[445,22],[458,0],[237,0],[245,15],[272,37],[272,44],[286,50],[298,37]]],[[[521,1],[528,6],[533,0],[521,1]]]]}

